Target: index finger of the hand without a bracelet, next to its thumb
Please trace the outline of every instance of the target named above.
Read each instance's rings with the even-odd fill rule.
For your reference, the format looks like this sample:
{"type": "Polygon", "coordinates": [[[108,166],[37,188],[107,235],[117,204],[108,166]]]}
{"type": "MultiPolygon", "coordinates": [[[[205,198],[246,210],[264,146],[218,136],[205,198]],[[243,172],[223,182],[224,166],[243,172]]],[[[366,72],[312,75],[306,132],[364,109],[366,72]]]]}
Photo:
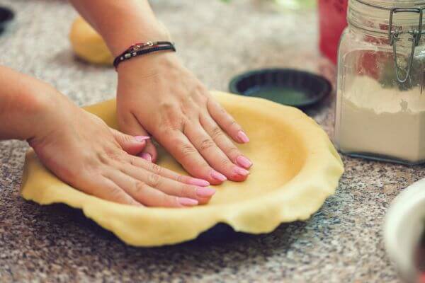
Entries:
{"type": "Polygon", "coordinates": [[[180,175],[174,171],[171,171],[167,168],[158,166],[155,163],[146,161],[145,159],[139,158],[137,156],[128,156],[129,162],[136,167],[144,168],[147,171],[161,175],[162,177],[176,180],[177,182],[186,183],[188,185],[196,185],[200,187],[208,187],[210,183],[206,180],[193,178],[190,176],[180,175]]]}

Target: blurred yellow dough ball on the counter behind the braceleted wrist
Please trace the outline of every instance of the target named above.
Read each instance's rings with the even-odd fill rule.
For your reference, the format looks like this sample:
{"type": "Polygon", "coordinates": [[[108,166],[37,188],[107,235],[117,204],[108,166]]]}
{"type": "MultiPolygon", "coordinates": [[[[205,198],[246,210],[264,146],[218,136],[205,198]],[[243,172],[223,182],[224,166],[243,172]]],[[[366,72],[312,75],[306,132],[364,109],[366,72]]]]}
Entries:
{"type": "Polygon", "coordinates": [[[72,50],[84,61],[93,64],[113,64],[113,56],[105,41],[83,18],[77,18],[72,24],[69,40],[72,50]]]}

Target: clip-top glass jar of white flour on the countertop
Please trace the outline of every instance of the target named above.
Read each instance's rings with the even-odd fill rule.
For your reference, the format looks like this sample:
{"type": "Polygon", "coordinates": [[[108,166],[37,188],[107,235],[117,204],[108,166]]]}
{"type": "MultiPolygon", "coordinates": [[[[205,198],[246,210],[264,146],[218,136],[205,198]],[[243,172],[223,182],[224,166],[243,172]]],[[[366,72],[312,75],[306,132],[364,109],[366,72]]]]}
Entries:
{"type": "Polygon", "coordinates": [[[334,141],[344,154],[425,161],[424,0],[349,0],[334,141]]]}

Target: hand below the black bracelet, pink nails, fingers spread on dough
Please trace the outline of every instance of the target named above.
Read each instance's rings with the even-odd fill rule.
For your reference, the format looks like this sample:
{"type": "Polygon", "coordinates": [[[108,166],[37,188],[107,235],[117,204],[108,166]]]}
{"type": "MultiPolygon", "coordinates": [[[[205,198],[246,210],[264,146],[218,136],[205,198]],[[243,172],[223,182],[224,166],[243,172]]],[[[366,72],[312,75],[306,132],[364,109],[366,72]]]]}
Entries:
{"type": "MultiPolygon", "coordinates": [[[[214,185],[249,175],[251,161],[225,132],[241,144],[249,138],[174,53],[120,64],[117,100],[120,129],[149,132],[191,175],[214,185]]],[[[150,141],[142,156],[157,158],[150,141]]]]}

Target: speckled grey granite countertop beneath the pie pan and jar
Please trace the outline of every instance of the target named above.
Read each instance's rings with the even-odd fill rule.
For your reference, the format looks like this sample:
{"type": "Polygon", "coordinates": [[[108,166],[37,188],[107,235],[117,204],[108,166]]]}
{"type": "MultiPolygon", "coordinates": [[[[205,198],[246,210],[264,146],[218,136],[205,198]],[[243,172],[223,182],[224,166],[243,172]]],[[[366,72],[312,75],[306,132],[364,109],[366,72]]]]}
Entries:
{"type": "MultiPolygon", "coordinates": [[[[329,78],[317,51],[314,11],[278,13],[265,0],[152,1],[187,66],[210,88],[258,67],[295,67],[329,78]]],[[[52,83],[79,105],[112,98],[115,71],[74,59],[67,40],[77,15],[67,1],[0,0],[16,21],[0,36],[0,64],[52,83]]],[[[331,134],[331,98],[309,111],[331,134]]],[[[18,195],[22,141],[0,142],[0,282],[398,282],[382,244],[394,197],[423,167],[344,157],[336,195],[309,221],[262,236],[132,248],[61,205],[18,195]]]]}

